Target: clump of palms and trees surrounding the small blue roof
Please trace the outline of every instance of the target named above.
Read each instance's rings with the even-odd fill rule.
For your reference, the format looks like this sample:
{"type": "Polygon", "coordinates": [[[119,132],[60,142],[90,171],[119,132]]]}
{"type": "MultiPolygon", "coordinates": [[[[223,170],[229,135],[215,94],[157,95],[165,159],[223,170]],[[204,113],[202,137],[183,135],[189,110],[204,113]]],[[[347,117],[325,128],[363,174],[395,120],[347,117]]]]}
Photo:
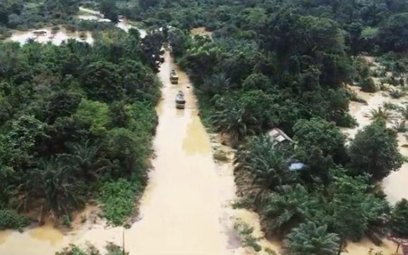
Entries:
{"type": "Polygon", "coordinates": [[[290,142],[274,144],[263,136],[251,138],[237,154],[239,191],[244,192],[245,205],[260,213],[267,235],[289,238],[287,249],[294,254],[312,254],[324,245],[331,245],[327,254],[336,254],[347,240],[360,240],[365,235],[378,243],[390,224],[396,227],[396,233],[403,231],[397,226],[403,224],[404,202],[396,206],[394,223],[389,223],[390,206],[384,196],[373,193],[372,185],[373,180],[387,176],[402,162],[394,131],[374,121],[356,135],[348,151],[338,127],[323,119],[299,120],[293,130],[294,149],[290,149],[290,142]],[[377,133],[371,134],[371,130],[377,133]],[[372,144],[363,139],[367,135],[372,144]],[[360,144],[363,140],[364,145],[360,144]],[[355,148],[364,148],[364,153],[355,148]],[[381,152],[370,152],[376,149],[381,152]],[[362,169],[355,164],[365,161],[376,162],[384,169],[368,163],[362,169]],[[290,168],[294,162],[304,165],[294,170],[290,168]],[[307,236],[322,232],[324,225],[324,231],[338,238],[329,235],[326,242],[307,236]],[[312,232],[301,234],[296,227],[312,232]],[[302,238],[311,242],[309,248],[302,245],[302,238]]]}

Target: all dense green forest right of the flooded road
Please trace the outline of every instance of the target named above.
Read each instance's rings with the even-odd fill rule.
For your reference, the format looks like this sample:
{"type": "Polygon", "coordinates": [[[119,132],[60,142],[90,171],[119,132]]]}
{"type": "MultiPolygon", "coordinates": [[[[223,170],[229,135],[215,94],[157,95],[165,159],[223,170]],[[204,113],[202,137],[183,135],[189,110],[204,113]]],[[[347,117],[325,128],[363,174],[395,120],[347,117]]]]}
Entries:
{"type": "Polygon", "coordinates": [[[377,114],[347,145],[339,126],[356,125],[348,105],[360,99],[346,84],[378,89],[378,73],[356,55],[384,55],[397,77],[387,82],[406,83],[406,1],[130,2],[142,11],[133,18],[172,25],[164,35],[195,84],[203,119],[240,145],[235,175],[245,204],[290,254],[337,254],[349,240],[402,235],[405,203],[393,209],[376,188],[403,163],[396,131],[377,114]],[[211,37],[189,35],[201,26],[211,37]],[[296,145],[264,136],[272,127],[296,145]],[[304,167],[290,170],[296,162],[304,167]]]}

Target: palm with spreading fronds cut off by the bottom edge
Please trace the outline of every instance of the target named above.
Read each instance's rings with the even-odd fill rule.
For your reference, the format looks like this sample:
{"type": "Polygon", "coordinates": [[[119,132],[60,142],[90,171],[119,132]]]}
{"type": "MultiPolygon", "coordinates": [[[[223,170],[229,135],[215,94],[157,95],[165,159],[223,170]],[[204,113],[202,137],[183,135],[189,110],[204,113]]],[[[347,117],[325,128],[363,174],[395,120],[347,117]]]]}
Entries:
{"type": "Polygon", "coordinates": [[[292,255],[335,255],[340,238],[327,233],[327,226],[317,227],[313,222],[301,223],[286,236],[285,250],[292,255]]]}

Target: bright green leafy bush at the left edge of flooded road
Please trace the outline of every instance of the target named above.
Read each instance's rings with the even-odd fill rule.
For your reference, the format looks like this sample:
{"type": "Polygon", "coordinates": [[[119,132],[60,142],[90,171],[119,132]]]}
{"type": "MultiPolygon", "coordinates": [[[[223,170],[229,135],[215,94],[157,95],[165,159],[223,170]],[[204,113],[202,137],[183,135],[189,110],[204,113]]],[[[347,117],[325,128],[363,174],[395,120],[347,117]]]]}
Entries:
{"type": "Polygon", "coordinates": [[[99,190],[99,202],[103,204],[103,217],[113,225],[122,225],[136,209],[136,197],[142,185],[124,179],[105,183],[99,190]]]}

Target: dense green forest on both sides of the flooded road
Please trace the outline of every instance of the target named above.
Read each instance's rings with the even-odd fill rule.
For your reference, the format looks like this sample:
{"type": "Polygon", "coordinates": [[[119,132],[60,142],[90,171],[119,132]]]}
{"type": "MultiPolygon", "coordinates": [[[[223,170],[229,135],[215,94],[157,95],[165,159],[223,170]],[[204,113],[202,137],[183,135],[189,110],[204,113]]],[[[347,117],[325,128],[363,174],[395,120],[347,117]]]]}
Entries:
{"type": "MultiPolygon", "coordinates": [[[[78,11],[73,1],[72,11],[61,16],[60,2],[0,2],[6,10],[0,25],[31,23],[15,22],[28,10],[56,20],[78,11]]],[[[356,55],[378,56],[398,78],[388,82],[405,85],[406,1],[82,4],[113,21],[122,14],[165,27],[173,56],[195,84],[206,124],[241,145],[235,169],[240,193],[261,215],[265,232],[285,240],[288,252],[336,254],[365,235],[376,243],[390,232],[408,235],[406,200],[392,208],[376,187],[403,161],[386,114],[377,112],[350,145],[339,129],[356,125],[348,105],[358,98],[345,85],[378,89],[372,80],[378,73],[356,55]],[[212,36],[189,35],[200,26],[212,36]],[[272,127],[293,137],[296,146],[264,136],[272,127]],[[291,170],[295,162],[304,167],[291,170]]],[[[145,184],[155,128],[158,84],[151,69],[161,61],[161,35],[141,43],[135,31],[110,31],[96,33],[96,39],[94,47],[73,41],[61,47],[1,45],[3,210],[43,206],[61,216],[92,196],[105,203],[105,216],[114,223],[133,210],[129,199],[145,184]]]]}

